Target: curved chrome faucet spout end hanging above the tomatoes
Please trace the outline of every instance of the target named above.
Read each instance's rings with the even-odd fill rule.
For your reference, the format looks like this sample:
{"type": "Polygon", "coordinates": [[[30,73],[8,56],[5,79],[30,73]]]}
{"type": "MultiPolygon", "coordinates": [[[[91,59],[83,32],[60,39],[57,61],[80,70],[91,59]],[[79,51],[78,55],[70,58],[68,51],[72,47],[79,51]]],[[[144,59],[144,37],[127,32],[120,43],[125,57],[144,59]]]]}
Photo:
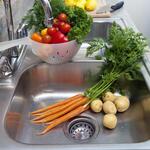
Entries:
{"type": "Polygon", "coordinates": [[[53,23],[53,13],[52,13],[52,7],[49,2],[49,0],[40,0],[41,5],[43,6],[44,13],[45,13],[45,21],[44,24],[47,27],[51,27],[53,23]]]}

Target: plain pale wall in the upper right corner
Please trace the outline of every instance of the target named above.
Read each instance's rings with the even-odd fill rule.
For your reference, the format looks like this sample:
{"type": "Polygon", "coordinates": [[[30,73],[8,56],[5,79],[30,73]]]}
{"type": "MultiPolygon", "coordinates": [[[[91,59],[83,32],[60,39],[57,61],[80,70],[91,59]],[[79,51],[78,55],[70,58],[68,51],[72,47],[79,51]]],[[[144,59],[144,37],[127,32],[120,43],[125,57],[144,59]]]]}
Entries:
{"type": "Polygon", "coordinates": [[[150,0],[124,0],[125,8],[140,32],[150,38],[150,0]]]}

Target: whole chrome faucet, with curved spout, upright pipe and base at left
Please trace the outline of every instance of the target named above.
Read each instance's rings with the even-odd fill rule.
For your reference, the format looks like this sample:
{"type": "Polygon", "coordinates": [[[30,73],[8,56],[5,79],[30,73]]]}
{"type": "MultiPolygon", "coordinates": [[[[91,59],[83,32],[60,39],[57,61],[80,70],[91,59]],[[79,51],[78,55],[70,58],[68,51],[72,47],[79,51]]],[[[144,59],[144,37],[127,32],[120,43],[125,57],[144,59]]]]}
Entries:
{"type": "MultiPolygon", "coordinates": [[[[53,22],[52,7],[50,5],[49,0],[40,0],[40,2],[45,13],[44,24],[47,27],[50,27],[52,26],[52,22],[53,22]]],[[[26,25],[23,22],[19,25],[19,28],[17,29],[17,33],[14,32],[11,0],[3,0],[3,3],[5,8],[8,39],[13,40],[16,38],[22,38],[27,36],[28,33],[27,33],[26,25]]],[[[5,56],[4,57],[2,56],[0,58],[0,78],[5,78],[6,76],[12,75],[12,73],[17,69],[17,66],[21,60],[20,58],[23,54],[22,49],[24,49],[24,46],[21,46],[21,49],[20,47],[14,47],[7,50],[8,51],[7,53],[5,52],[4,54],[2,54],[5,56]]]]}

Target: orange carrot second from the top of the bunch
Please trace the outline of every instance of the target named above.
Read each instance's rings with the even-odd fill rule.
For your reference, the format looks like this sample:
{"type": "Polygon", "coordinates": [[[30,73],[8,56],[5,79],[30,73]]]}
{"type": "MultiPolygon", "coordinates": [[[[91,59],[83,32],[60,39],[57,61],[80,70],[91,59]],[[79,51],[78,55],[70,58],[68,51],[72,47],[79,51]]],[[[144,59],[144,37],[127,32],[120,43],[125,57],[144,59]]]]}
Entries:
{"type": "Polygon", "coordinates": [[[62,111],[62,110],[64,110],[64,109],[70,107],[70,106],[73,105],[74,103],[77,103],[78,101],[81,101],[82,99],[83,99],[83,97],[78,98],[78,99],[75,99],[74,101],[70,101],[70,102],[68,102],[68,103],[66,103],[66,104],[64,104],[64,105],[62,105],[62,106],[57,106],[57,107],[55,107],[55,108],[52,108],[52,109],[50,109],[50,110],[48,110],[48,111],[42,113],[40,116],[36,117],[35,119],[33,119],[33,121],[34,121],[34,120],[40,120],[40,119],[43,119],[43,118],[45,118],[45,117],[48,117],[48,116],[50,116],[50,115],[52,115],[52,114],[55,114],[55,113],[57,113],[57,112],[60,112],[60,111],[62,111]]]}

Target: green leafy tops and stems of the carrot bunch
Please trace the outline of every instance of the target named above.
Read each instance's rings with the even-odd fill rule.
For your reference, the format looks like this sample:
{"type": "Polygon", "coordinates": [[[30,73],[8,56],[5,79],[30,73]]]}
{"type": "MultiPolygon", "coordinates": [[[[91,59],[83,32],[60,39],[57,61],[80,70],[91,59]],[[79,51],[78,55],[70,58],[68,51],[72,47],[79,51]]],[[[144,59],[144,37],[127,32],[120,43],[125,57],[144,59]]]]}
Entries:
{"type": "MultiPolygon", "coordinates": [[[[99,41],[99,44],[95,44],[97,50],[100,48],[99,45],[102,45],[101,40],[99,41]]],[[[95,40],[93,42],[95,43],[95,40]]],[[[91,100],[98,98],[120,77],[133,75],[133,70],[136,70],[141,62],[147,43],[141,33],[136,33],[131,28],[122,29],[114,23],[109,32],[108,42],[104,42],[103,45],[106,64],[102,70],[101,80],[85,91],[85,95],[91,100]]],[[[88,51],[92,53],[93,49],[90,48],[88,51]]]]}

